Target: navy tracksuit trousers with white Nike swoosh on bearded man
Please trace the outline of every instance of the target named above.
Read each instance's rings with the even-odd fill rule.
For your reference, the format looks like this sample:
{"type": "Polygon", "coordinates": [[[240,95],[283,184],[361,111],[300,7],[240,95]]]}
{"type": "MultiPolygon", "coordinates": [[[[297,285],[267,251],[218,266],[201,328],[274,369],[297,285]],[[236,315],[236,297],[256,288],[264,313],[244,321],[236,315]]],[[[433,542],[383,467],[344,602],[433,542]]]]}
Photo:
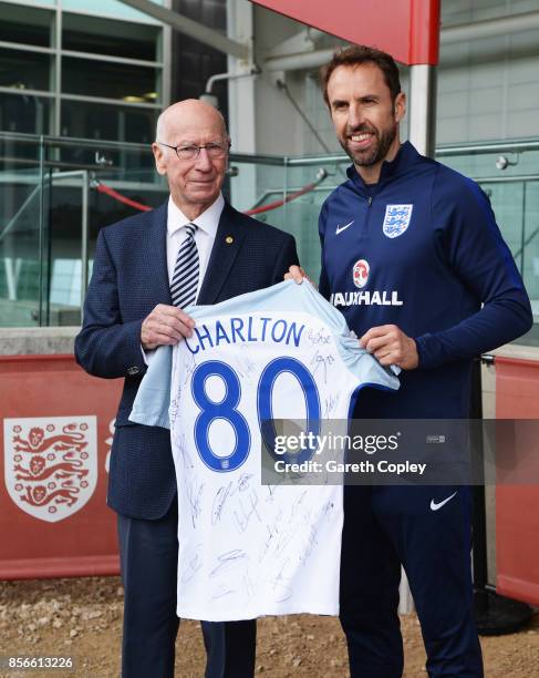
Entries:
{"type": "Polygon", "coordinates": [[[344,489],[341,625],[351,678],[401,678],[401,563],[431,678],[481,678],[473,614],[468,487],[344,489]],[[431,510],[431,500],[452,500],[431,510]],[[434,491],[434,496],[433,496],[434,491]]]}

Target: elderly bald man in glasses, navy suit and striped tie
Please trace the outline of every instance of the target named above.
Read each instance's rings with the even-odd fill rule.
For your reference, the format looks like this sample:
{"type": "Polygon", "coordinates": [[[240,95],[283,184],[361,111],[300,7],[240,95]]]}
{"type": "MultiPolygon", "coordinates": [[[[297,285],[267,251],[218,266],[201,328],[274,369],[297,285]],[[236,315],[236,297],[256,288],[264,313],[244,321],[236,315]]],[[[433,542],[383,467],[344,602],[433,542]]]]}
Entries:
{"type": "MultiPolygon", "coordinates": [[[[294,239],[236,212],[221,186],[230,141],[213,106],[187,100],[157,122],[152,148],[167,203],[103,228],[76,338],[91,374],[124,378],[108,505],[117,513],[125,590],[122,676],[174,676],[177,497],[169,432],[128,421],[152,350],[190,337],[183,310],[282,280],[294,239]]],[[[165,377],[166,378],[166,377],[165,377]]],[[[203,622],[207,678],[252,676],[256,623],[203,622]]]]}

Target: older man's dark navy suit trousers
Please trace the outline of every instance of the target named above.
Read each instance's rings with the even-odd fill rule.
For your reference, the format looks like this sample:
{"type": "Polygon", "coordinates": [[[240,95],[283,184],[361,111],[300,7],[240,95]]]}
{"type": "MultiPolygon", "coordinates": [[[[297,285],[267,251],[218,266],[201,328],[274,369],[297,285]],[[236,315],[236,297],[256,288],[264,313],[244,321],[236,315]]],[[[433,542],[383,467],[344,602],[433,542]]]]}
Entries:
{"type": "MultiPolygon", "coordinates": [[[[172,678],[176,616],[177,502],[159,520],[117,516],[124,585],[122,678],[172,678]]],[[[203,622],[206,678],[250,678],[256,622],[203,622]]]]}

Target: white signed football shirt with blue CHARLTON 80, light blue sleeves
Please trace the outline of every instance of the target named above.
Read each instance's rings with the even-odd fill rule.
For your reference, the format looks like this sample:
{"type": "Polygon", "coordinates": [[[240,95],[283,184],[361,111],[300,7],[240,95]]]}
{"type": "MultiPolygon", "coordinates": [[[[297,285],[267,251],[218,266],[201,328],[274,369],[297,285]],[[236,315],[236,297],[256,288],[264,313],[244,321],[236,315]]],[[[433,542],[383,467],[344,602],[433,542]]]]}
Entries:
{"type": "MultiPolygon", "coordinates": [[[[342,485],[262,485],[262,445],[273,452],[272,420],[320,432],[322,422],[348,419],[362,386],[396,389],[398,380],[307,281],[187,312],[193,337],[158,349],[129,418],[170,428],[177,614],[209,622],[336,615],[342,485]]],[[[294,454],[315,458],[304,450],[284,459],[294,454]]]]}

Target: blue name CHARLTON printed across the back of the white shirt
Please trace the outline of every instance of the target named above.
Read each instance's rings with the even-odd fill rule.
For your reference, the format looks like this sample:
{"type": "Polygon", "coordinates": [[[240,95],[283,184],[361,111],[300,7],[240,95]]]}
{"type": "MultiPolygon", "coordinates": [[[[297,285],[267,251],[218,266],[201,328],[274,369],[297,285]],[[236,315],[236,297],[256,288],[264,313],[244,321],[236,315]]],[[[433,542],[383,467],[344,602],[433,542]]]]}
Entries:
{"type": "Polygon", "coordinates": [[[220,343],[239,343],[249,341],[273,341],[298,347],[304,325],[287,322],[282,318],[260,318],[249,316],[248,318],[230,317],[222,322],[217,320],[215,326],[200,325],[194,328],[194,336],[185,340],[187,349],[191,353],[205,351],[220,343]]]}

